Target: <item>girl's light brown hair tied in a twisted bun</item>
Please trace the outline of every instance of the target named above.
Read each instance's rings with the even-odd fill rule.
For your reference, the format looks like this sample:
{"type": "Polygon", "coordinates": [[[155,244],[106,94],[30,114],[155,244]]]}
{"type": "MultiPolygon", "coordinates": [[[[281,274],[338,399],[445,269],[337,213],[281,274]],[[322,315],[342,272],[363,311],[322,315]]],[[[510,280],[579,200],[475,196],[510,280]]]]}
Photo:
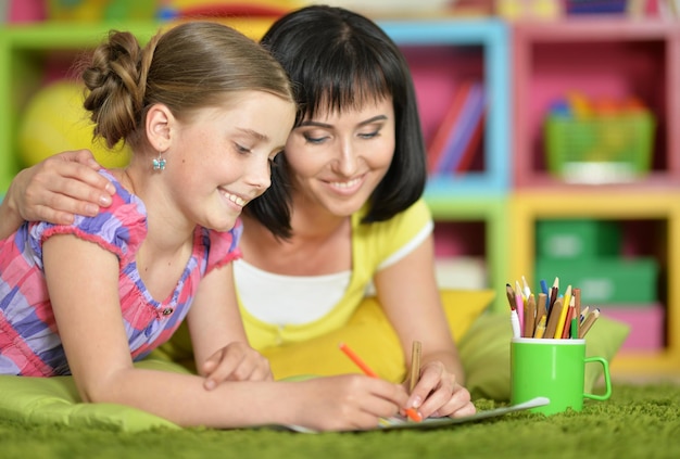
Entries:
{"type": "Polygon", "coordinates": [[[213,22],[189,22],[156,34],[141,48],[127,31],[112,30],[80,64],[95,137],[109,148],[144,141],[144,115],[167,105],[178,119],[225,103],[236,91],[266,91],[293,103],[286,72],[260,44],[213,22]]]}

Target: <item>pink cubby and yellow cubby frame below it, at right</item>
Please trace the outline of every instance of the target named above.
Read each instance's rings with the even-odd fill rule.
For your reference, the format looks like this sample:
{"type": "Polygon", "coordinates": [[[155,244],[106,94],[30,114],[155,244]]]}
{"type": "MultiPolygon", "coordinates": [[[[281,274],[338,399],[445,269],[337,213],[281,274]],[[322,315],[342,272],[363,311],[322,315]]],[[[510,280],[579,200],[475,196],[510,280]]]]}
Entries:
{"type": "MultiPolygon", "coordinates": [[[[664,347],[621,350],[617,373],[680,371],[680,27],[663,21],[572,18],[512,27],[513,189],[509,279],[536,272],[536,225],[541,219],[593,218],[665,228],[653,239],[659,266],[664,347]],[[544,117],[569,91],[591,97],[634,95],[656,118],[648,174],[638,180],[575,184],[546,166],[544,117]],[[658,238],[658,239],[655,239],[658,238]]],[[[559,276],[558,272],[555,276],[559,276]]],[[[549,280],[552,281],[552,280],[549,280]]]]}

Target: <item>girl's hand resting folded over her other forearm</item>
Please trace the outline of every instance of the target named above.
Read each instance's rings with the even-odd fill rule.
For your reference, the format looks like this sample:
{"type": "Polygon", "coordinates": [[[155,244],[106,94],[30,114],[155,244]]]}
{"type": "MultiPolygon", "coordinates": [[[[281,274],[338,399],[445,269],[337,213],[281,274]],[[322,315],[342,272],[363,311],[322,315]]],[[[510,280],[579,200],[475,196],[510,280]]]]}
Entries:
{"type": "Polygon", "coordinates": [[[224,381],[273,381],[269,360],[242,342],[227,344],[201,367],[204,387],[210,391],[224,381]]]}

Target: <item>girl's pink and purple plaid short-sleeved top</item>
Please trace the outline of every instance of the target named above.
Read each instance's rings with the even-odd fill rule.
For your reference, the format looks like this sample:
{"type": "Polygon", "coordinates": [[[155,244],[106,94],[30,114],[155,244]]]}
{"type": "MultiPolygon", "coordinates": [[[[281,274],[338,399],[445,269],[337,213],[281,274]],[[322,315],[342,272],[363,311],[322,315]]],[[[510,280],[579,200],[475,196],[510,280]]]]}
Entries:
{"type": "Polygon", "coordinates": [[[75,234],[117,255],[123,321],[135,360],[169,339],[186,317],[205,273],[240,257],[240,220],[228,232],[197,228],[192,255],[173,294],[156,302],[141,282],[135,263],[147,237],[146,207],[109,173],[101,174],[114,182],[117,193],[113,204],[97,217],[77,217],[71,226],[24,224],[0,241],[0,374],[70,374],[42,271],[42,242],[53,234],[75,234]]]}

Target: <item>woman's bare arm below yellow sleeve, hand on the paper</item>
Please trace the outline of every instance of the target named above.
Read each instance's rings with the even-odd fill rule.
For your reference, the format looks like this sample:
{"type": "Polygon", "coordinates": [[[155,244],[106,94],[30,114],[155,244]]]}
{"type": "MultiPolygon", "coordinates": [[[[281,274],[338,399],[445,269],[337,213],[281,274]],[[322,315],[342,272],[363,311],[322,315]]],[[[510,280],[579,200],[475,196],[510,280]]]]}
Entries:
{"type": "MultiPolygon", "coordinates": [[[[407,360],[412,343],[423,343],[420,380],[410,404],[424,417],[474,413],[470,394],[463,387],[463,366],[435,277],[432,235],[404,258],[380,270],[375,284],[407,360]]],[[[406,361],[406,368],[410,364],[406,361]]]]}

